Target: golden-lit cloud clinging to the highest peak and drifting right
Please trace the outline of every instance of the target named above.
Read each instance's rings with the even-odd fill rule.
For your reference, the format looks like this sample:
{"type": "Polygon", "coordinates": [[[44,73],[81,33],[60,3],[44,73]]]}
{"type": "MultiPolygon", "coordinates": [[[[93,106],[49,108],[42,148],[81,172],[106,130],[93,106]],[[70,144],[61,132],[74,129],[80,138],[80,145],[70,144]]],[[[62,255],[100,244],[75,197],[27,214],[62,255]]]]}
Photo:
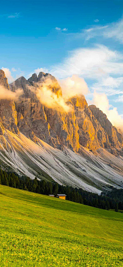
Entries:
{"type": "Polygon", "coordinates": [[[71,112],[73,107],[66,102],[77,95],[87,94],[88,86],[84,79],[79,78],[78,75],[72,75],[72,77],[58,82],[49,75],[42,82],[30,87],[30,90],[34,91],[40,103],[48,108],[54,108],[61,112],[71,112]]]}

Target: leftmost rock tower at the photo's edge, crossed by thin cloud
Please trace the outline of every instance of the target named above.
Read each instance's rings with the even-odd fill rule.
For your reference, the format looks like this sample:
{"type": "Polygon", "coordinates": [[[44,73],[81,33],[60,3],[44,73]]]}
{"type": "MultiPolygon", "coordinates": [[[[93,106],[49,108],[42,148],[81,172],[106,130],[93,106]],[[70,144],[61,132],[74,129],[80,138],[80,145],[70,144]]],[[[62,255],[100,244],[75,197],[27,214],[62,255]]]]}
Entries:
{"type": "MultiPolygon", "coordinates": [[[[0,70],[0,85],[9,90],[8,81],[3,70],[0,70]]],[[[19,132],[17,127],[17,112],[13,100],[0,100],[0,118],[1,124],[3,125],[1,128],[1,134],[3,134],[3,128],[6,128],[14,133],[19,132]]]]}

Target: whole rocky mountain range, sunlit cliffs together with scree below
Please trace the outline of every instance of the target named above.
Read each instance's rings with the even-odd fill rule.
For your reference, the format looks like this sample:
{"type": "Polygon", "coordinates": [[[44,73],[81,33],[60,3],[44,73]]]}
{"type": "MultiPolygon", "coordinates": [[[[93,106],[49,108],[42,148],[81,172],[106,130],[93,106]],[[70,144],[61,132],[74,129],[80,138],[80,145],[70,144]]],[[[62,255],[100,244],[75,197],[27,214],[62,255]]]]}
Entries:
{"type": "Polygon", "coordinates": [[[83,95],[67,99],[68,111],[49,106],[49,93],[55,104],[63,102],[62,89],[44,72],[8,85],[0,70],[0,86],[7,92],[0,100],[0,162],[4,168],[98,194],[112,186],[123,187],[122,132],[95,105],[88,106],[83,95]],[[47,103],[39,95],[44,84],[47,103]],[[15,96],[17,90],[22,93],[9,99],[9,92],[15,96]]]}

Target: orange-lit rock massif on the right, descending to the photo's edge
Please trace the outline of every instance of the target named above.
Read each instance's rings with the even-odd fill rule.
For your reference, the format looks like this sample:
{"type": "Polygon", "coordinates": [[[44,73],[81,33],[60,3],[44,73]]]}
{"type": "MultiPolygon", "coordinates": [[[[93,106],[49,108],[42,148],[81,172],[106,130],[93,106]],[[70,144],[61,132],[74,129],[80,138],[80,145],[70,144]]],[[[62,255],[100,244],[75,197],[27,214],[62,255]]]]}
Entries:
{"type": "Polygon", "coordinates": [[[94,105],[88,107],[84,96],[71,98],[69,102],[74,106],[80,145],[92,151],[105,147],[113,154],[122,154],[122,136],[101,110],[94,105]]]}

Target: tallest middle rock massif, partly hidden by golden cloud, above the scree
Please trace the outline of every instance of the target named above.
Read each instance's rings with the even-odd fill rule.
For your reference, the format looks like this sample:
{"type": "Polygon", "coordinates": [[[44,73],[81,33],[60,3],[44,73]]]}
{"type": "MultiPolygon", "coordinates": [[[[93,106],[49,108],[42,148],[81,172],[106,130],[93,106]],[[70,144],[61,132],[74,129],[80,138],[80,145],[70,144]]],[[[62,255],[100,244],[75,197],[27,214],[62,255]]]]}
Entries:
{"type": "MultiPolygon", "coordinates": [[[[40,103],[34,93],[33,87],[37,86],[37,83],[42,84],[46,77],[52,80],[53,85],[55,85],[50,89],[57,97],[62,96],[57,80],[48,73],[40,72],[38,77],[34,73],[28,81],[24,77],[20,77],[10,84],[12,91],[18,88],[24,90],[24,94],[16,102],[16,110],[23,115],[28,126],[38,138],[59,149],[63,149],[66,145],[72,150],[78,151],[78,124],[74,110],[67,113],[47,108],[40,103]]],[[[20,125],[18,127],[20,129],[20,125]]]]}

